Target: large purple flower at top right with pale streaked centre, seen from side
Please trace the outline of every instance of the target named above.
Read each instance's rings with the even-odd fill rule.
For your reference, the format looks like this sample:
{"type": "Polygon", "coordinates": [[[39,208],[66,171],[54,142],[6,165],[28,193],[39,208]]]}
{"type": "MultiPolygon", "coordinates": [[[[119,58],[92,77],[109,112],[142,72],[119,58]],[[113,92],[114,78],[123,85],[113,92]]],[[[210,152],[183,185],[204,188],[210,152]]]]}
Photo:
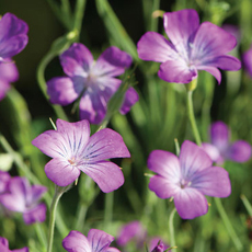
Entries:
{"type": "Polygon", "coordinates": [[[209,22],[199,25],[195,10],[165,13],[163,26],[170,41],[147,32],[137,45],[139,58],[161,62],[158,76],[162,80],[188,83],[197,78],[197,70],[205,70],[220,83],[218,68],[241,68],[240,60],[227,55],[236,46],[236,37],[209,22]]]}

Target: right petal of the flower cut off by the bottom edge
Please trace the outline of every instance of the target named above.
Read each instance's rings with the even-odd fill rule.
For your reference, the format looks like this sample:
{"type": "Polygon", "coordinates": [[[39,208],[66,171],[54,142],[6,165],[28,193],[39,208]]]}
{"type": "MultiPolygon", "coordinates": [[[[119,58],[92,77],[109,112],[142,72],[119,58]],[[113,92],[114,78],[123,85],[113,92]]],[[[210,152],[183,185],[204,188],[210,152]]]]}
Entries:
{"type": "Polygon", "coordinates": [[[88,240],[92,252],[106,252],[114,238],[102,230],[90,229],[88,240]]]}

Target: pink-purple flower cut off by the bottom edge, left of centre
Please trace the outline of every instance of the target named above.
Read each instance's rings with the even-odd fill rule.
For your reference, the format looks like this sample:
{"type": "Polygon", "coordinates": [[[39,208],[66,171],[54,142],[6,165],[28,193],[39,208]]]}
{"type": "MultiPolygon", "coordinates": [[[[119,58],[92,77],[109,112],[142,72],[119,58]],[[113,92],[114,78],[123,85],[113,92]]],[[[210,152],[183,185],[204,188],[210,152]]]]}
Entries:
{"type": "Polygon", "coordinates": [[[114,238],[98,229],[91,229],[88,238],[78,231],[70,231],[62,240],[62,247],[68,252],[119,252],[115,248],[110,248],[114,238]]]}

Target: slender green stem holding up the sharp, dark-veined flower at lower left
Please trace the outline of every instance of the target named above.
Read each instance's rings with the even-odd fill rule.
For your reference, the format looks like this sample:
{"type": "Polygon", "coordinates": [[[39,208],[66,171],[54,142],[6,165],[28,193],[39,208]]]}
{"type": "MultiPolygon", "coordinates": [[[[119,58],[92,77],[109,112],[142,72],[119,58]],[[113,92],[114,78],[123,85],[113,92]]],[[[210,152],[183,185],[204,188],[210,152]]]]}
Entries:
{"type": "Polygon", "coordinates": [[[56,217],[56,209],[61,197],[64,191],[60,190],[59,186],[55,185],[55,195],[50,205],[50,215],[49,215],[49,231],[48,231],[48,243],[47,243],[47,252],[51,252],[53,250],[53,242],[54,242],[54,230],[55,230],[55,217],[56,217]]]}

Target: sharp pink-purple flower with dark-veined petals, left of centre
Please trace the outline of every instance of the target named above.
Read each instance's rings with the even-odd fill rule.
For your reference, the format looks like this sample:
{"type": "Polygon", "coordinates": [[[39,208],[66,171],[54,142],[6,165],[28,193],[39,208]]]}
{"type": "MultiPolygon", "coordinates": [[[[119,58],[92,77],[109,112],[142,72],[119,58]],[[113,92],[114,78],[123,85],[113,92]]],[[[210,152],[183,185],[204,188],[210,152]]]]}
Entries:
{"type": "Polygon", "coordinates": [[[104,128],[90,137],[89,122],[56,122],[57,130],[47,130],[32,144],[53,158],[46,165],[46,175],[57,185],[75,182],[80,172],[91,176],[99,187],[108,193],[124,183],[121,169],[112,158],[129,158],[127,147],[119,134],[104,128]]]}

